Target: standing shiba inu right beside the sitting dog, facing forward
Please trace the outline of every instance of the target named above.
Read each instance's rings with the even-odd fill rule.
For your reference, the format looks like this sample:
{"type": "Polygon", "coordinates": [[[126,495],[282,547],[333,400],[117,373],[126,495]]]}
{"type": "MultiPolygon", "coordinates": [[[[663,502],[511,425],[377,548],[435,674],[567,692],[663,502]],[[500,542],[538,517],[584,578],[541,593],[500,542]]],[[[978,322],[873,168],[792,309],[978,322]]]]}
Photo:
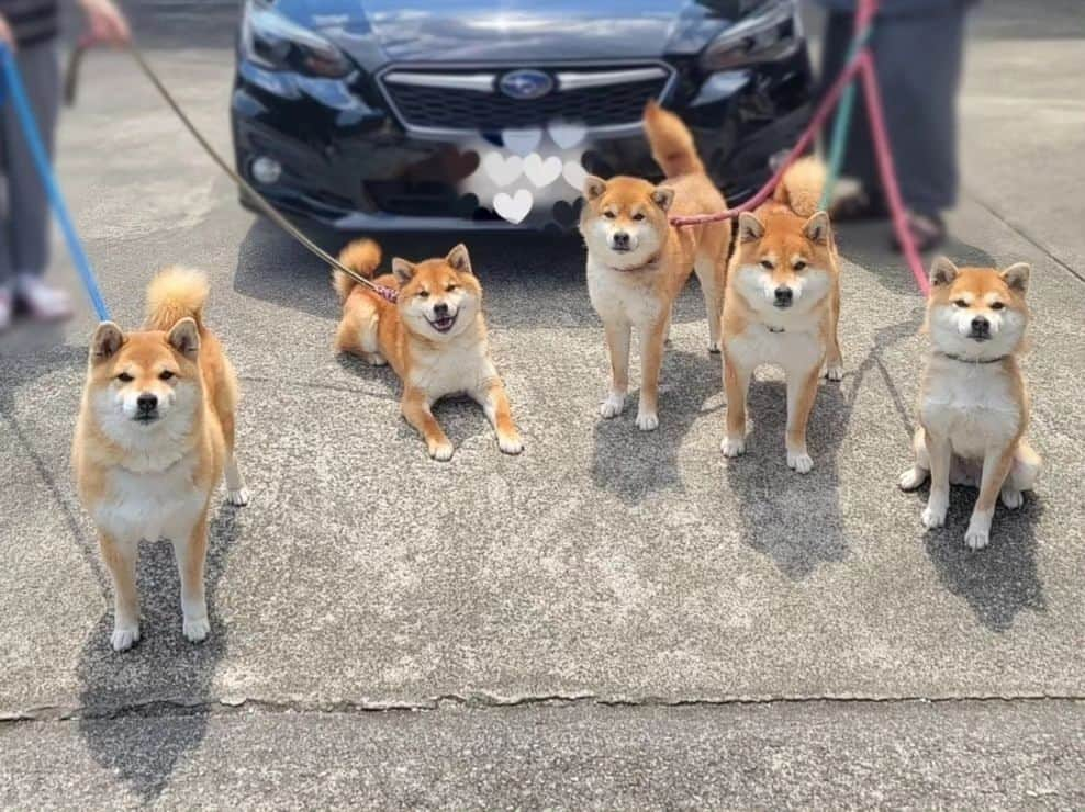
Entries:
{"type": "Polygon", "coordinates": [[[829,217],[818,211],[824,185],[824,167],[801,160],[784,174],[773,200],[739,215],[724,296],[723,452],[746,452],[750,379],[760,364],[776,364],[787,376],[787,465],[803,474],[814,467],[806,424],[821,368],[832,381],[843,376],[837,250],[829,217]]]}

